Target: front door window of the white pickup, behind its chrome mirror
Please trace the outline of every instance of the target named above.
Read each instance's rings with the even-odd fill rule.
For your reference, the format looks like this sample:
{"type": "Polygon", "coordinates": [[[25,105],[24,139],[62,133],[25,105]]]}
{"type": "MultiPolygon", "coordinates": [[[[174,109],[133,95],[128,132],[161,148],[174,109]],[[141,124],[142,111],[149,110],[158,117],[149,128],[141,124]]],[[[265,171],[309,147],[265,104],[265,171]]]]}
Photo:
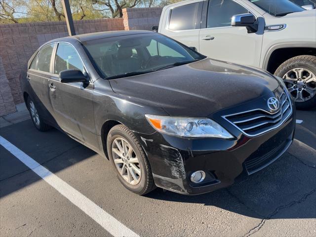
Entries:
{"type": "Polygon", "coordinates": [[[248,13],[248,10],[233,0],[209,0],[207,28],[231,26],[233,15],[248,13]]]}

